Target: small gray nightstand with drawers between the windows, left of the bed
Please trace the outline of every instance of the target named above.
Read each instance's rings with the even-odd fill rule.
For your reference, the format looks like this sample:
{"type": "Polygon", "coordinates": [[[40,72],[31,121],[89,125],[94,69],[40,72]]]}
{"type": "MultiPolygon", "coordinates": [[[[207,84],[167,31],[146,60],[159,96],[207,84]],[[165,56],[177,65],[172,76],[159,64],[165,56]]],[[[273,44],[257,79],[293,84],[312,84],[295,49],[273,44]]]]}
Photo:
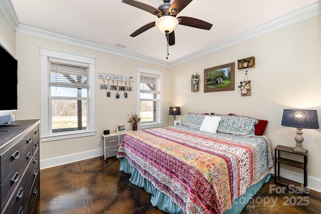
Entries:
{"type": "Polygon", "coordinates": [[[131,133],[129,130],[122,133],[110,133],[109,135],[101,135],[101,155],[106,160],[106,158],[113,157],[117,155],[119,146],[122,142],[122,139],[126,134],[131,133]]]}

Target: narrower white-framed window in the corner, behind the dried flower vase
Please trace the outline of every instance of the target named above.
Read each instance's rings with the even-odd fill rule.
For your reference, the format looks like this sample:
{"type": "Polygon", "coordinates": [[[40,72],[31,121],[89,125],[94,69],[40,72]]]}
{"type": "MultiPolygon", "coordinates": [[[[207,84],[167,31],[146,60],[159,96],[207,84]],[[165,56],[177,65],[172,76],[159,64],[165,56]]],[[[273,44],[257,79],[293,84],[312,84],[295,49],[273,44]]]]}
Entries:
{"type": "Polygon", "coordinates": [[[139,88],[137,112],[141,117],[140,126],[151,128],[162,126],[162,82],[163,72],[137,68],[139,88]]]}

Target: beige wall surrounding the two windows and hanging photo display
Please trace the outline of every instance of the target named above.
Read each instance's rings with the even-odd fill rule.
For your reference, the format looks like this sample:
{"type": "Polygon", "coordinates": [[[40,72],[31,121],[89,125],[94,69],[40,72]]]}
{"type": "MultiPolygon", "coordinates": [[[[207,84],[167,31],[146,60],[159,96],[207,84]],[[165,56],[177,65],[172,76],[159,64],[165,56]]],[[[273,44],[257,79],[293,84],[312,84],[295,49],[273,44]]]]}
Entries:
{"type": "Polygon", "coordinates": [[[103,130],[116,132],[117,124],[127,123],[127,114],[134,112],[137,106],[136,67],[146,67],[164,71],[164,122],[168,123],[169,102],[169,70],[166,67],[143,63],[102,52],[61,44],[53,41],[17,34],[17,57],[19,58],[19,106],[16,119],[40,119],[40,47],[65,51],[95,58],[95,127],[96,135],[91,137],[74,138],[41,143],[40,158],[49,159],[59,156],[87,152],[100,149],[97,144],[103,130]],[[124,76],[133,76],[133,91],[128,92],[128,98],[106,98],[106,90],[100,90],[103,83],[98,78],[98,72],[112,73],[124,76]],[[167,110],[167,111],[166,111],[167,110]]]}

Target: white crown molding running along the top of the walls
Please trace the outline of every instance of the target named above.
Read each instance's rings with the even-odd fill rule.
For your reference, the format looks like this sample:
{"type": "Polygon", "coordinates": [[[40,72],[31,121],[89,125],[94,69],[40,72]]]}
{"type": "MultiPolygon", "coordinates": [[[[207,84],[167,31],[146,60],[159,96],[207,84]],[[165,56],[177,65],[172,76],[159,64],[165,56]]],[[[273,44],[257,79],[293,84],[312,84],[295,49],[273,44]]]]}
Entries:
{"type": "Polygon", "coordinates": [[[212,46],[204,48],[202,50],[196,51],[192,54],[184,56],[180,59],[174,60],[172,62],[167,62],[163,60],[157,60],[151,57],[142,56],[134,53],[130,53],[123,50],[118,50],[108,46],[99,45],[96,43],[91,43],[88,41],[68,37],[66,35],[51,32],[45,29],[36,28],[30,25],[22,24],[19,22],[16,12],[10,0],[0,1],[0,10],[4,13],[9,23],[15,29],[17,33],[34,36],[50,41],[60,42],[64,44],[74,45],[82,48],[87,48],[107,54],[112,54],[120,57],[125,57],[137,61],[142,61],[146,63],[151,63],[154,65],[160,65],[165,67],[173,67],[208,54],[220,51],[222,49],[231,47],[233,45],[254,39],[256,37],[271,33],[273,31],[280,30],[282,28],[288,27],[290,25],[302,22],[304,20],[310,19],[312,17],[321,14],[321,1],[314,2],[296,11],[283,15],[279,18],[266,22],[262,25],[256,26],[246,32],[233,36],[224,41],[218,42],[212,46]]]}

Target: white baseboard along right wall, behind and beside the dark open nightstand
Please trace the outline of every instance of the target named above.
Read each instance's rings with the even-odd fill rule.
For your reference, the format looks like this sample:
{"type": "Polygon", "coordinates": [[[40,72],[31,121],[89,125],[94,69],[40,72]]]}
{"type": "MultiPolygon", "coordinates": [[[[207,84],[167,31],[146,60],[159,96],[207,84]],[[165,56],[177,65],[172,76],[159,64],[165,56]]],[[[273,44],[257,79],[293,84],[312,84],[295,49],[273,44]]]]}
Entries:
{"type": "MultiPolygon", "coordinates": [[[[303,174],[287,169],[280,168],[280,176],[299,183],[303,182],[303,174]]],[[[307,186],[314,191],[321,192],[321,179],[307,176],[307,186]]]]}

